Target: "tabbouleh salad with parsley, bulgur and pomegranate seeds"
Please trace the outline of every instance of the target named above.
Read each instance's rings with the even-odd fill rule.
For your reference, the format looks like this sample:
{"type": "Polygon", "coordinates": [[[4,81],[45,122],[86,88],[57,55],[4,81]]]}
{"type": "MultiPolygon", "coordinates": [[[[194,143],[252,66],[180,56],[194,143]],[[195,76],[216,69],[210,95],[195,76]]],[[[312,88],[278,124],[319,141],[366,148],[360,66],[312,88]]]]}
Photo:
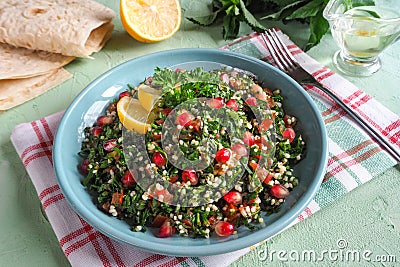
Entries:
{"type": "Polygon", "coordinates": [[[305,149],[279,89],[232,68],[157,68],[139,86],[161,92],[145,135],[124,134],[130,131],[118,117],[117,102],[137,97],[138,87],[131,86],[85,129],[79,169],[99,209],[133,231],[155,227],[158,237],[205,238],[235,234],[240,226],[256,229],[263,226],[262,213],[279,211],[298,184],[293,166],[305,149]],[[196,114],[199,107],[205,113],[196,114]],[[163,142],[169,133],[175,134],[173,145],[163,142]],[[143,146],[124,140],[132,136],[143,146]],[[173,164],[183,158],[209,164],[173,164]],[[182,192],[200,192],[202,202],[182,192]]]}

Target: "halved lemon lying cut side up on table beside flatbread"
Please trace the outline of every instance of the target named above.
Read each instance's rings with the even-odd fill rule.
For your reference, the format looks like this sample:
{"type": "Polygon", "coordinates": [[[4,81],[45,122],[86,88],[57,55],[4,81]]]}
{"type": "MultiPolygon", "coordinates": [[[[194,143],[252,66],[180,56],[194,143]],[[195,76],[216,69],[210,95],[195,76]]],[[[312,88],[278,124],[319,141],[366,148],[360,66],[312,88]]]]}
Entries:
{"type": "Polygon", "coordinates": [[[140,42],[170,38],[182,22],[179,0],[120,0],[122,25],[140,42]]]}

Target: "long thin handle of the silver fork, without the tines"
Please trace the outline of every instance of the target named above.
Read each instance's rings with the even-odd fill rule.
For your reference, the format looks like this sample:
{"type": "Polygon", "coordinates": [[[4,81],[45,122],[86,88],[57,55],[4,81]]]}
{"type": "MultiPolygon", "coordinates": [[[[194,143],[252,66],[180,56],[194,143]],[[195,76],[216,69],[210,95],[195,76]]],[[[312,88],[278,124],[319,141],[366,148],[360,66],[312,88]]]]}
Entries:
{"type": "Polygon", "coordinates": [[[397,163],[400,162],[400,153],[396,150],[391,143],[389,143],[385,138],[383,138],[374,128],[372,128],[368,123],[366,123],[360,115],[350,109],[339,97],[332,93],[328,88],[325,88],[319,82],[304,82],[302,85],[313,85],[324,93],[326,93],[330,98],[332,98],[336,103],[338,103],[346,112],[349,114],[371,137],[383,147],[385,150],[396,160],[397,163]]]}

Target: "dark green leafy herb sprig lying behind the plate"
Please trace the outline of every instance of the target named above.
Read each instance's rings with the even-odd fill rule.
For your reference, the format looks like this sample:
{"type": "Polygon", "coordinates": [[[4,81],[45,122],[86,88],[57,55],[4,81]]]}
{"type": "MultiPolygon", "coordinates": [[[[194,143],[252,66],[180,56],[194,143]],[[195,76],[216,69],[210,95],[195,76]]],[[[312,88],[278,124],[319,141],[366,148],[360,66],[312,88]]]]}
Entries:
{"type": "Polygon", "coordinates": [[[262,20],[283,23],[301,21],[310,27],[309,40],[304,47],[308,50],[317,45],[329,30],[329,23],[322,15],[327,3],[328,0],[213,0],[209,14],[186,18],[203,26],[212,25],[222,19],[225,40],[237,37],[241,22],[248,24],[256,32],[263,32],[266,28],[260,23],[262,20]]]}

